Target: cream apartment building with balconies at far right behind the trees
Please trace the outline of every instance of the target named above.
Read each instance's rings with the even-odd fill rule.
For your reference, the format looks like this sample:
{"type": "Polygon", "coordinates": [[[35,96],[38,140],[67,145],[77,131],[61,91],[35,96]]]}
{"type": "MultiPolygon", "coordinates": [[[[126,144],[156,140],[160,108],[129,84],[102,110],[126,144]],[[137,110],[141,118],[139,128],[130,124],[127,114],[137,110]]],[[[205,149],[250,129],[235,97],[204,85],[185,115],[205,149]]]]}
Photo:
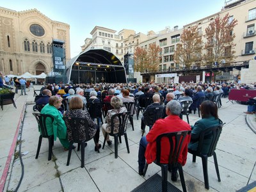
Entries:
{"type": "Polygon", "coordinates": [[[191,26],[198,27],[198,33],[203,36],[203,42],[205,42],[205,29],[209,26],[210,22],[216,17],[224,17],[228,13],[229,20],[237,19],[237,25],[234,28],[236,37],[234,38],[235,61],[248,61],[255,58],[255,22],[256,22],[256,1],[226,1],[224,8],[214,15],[209,15],[200,20],[196,20],[190,24],[184,26],[184,29],[191,26]]]}

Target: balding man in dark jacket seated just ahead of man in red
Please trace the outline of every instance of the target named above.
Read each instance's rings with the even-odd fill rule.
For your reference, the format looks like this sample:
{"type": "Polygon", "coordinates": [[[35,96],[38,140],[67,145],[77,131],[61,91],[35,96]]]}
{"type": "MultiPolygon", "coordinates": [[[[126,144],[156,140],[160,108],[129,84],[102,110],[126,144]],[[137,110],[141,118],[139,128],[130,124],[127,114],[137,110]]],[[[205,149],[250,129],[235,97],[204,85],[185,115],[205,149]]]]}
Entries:
{"type": "Polygon", "coordinates": [[[160,96],[158,94],[153,95],[153,103],[147,106],[146,110],[143,113],[141,118],[141,130],[145,130],[146,125],[152,126],[154,125],[154,118],[163,117],[164,107],[159,104],[160,96]],[[161,113],[154,114],[154,109],[159,108],[161,113]]]}

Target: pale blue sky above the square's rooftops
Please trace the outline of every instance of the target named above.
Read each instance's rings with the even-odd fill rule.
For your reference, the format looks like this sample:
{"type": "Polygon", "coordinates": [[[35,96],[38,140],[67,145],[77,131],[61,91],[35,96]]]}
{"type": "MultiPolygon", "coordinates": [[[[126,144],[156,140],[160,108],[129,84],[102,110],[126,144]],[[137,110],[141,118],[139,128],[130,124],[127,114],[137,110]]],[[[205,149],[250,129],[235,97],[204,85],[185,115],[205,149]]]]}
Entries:
{"type": "Polygon", "coordinates": [[[15,11],[36,8],[49,19],[70,25],[71,58],[79,54],[85,38],[95,26],[114,29],[134,29],[136,33],[163,30],[166,26],[182,28],[196,20],[220,12],[225,1],[205,0],[0,0],[0,6],[15,11]]]}

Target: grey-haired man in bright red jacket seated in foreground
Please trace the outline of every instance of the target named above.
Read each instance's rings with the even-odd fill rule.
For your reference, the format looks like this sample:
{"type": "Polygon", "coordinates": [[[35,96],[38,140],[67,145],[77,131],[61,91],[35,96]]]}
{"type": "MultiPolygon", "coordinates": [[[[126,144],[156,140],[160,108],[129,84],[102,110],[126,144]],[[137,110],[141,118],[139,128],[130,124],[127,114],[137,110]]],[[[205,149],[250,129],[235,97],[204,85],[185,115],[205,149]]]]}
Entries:
{"type": "MultiPolygon", "coordinates": [[[[147,136],[143,136],[140,140],[140,148],[139,148],[139,174],[143,174],[143,169],[145,166],[145,159],[147,159],[147,163],[150,164],[156,160],[156,138],[160,134],[166,132],[177,132],[177,131],[190,131],[191,127],[187,122],[184,122],[179,118],[179,114],[181,111],[180,102],[177,100],[171,100],[168,102],[166,106],[166,118],[159,119],[155,122],[152,129],[148,132],[147,136]]],[[[187,160],[188,154],[188,143],[190,141],[190,134],[186,136],[181,151],[178,162],[184,166],[187,160]]],[[[164,142],[164,140],[162,141],[164,142]]],[[[167,141],[165,141],[167,144],[167,141]]],[[[164,142],[164,143],[165,143],[164,142]]],[[[168,163],[169,150],[170,148],[167,144],[162,148],[162,156],[161,163],[168,163]]],[[[170,168],[171,169],[171,168],[170,168]]],[[[169,169],[169,170],[170,170],[169,169]]],[[[177,181],[178,173],[177,167],[172,168],[172,180],[177,181]]]]}

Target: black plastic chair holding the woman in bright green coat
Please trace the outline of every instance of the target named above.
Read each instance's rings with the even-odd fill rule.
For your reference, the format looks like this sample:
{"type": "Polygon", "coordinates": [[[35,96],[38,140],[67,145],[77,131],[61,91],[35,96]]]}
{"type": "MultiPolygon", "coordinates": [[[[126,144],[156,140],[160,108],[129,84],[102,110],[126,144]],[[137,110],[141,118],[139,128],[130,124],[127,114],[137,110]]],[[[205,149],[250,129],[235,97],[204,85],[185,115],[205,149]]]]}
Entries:
{"type": "Polygon", "coordinates": [[[40,114],[40,113],[33,113],[33,115],[36,118],[36,121],[38,125],[40,126],[40,131],[41,134],[39,136],[38,140],[38,146],[37,146],[37,151],[36,151],[36,159],[38,158],[40,148],[41,148],[41,143],[42,143],[42,138],[48,138],[48,143],[49,143],[49,152],[48,152],[48,161],[52,159],[52,146],[54,143],[54,136],[48,135],[47,133],[47,128],[46,128],[46,118],[51,118],[52,122],[54,120],[53,116],[51,115],[46,115],[46,114],[40,114]]]}

